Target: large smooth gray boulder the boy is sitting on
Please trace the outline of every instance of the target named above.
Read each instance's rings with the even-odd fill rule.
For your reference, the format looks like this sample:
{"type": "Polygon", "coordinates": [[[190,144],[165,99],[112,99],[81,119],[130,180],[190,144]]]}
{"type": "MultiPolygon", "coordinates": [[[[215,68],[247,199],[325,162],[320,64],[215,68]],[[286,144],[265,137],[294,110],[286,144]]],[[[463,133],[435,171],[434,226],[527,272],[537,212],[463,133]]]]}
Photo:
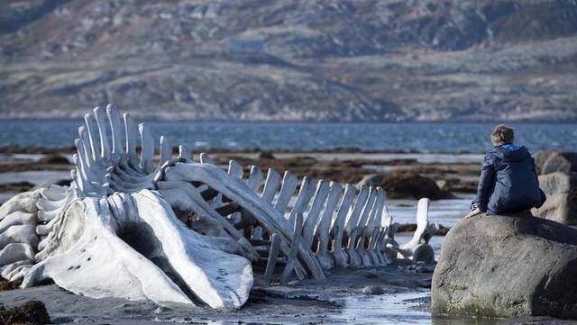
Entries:
{"type": "Polygon", "coordinates": [[[449,231],[434,314],[577,318],[577,230],[532,217],[477,215],[449,231]]]}

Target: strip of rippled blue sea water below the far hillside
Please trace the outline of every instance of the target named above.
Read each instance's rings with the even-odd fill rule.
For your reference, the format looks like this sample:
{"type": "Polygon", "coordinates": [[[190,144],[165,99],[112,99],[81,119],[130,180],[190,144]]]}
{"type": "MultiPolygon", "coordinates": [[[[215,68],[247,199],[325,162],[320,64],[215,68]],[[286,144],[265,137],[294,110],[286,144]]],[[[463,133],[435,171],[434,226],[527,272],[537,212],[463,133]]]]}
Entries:
{"type": "MultiPolygon", "coordinates": [[[[81,121],[0,121],[0,147],[71,146],[81,121]]],[[[490,123],[148,122],[155,138],[206,149],[334,149],[482,151],[490,123]]],[[[577,124],[513,124],[530,150],[577,150],[577,124]]]]}

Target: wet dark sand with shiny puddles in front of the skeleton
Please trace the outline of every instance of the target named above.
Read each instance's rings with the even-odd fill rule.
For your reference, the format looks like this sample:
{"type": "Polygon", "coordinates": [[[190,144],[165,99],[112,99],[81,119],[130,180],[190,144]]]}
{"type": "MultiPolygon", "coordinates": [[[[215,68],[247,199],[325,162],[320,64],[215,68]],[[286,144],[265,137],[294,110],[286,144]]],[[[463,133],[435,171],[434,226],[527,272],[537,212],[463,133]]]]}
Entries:
{"type": "MultiPolygon", "coordinates": [[[[257,283],[259,282],[257,278],[257,283]]],[[[0,293],[6,307],[31,299],[46,304],[56,324],[572,324],[545,317],[481,319],[432,317],[431,273],[416,273],[405,261],[397,265],[337,270],[325,280],[289,285],[255,285],[249,301],[237,311],[204,306],[92,299],[54,284],[0,293]]]]}

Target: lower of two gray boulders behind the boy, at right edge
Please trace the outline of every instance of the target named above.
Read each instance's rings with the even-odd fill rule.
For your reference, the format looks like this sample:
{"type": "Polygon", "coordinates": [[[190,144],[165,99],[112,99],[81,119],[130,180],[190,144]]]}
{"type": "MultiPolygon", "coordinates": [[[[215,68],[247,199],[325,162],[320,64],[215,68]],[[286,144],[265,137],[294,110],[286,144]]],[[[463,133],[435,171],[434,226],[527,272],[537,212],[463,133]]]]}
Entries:
{"type": "Polygon", "coordinates": [[[577,173],[551,173],[539,176],[547,201],[533,213],[539,218],[577,225],[577,173]]]}

